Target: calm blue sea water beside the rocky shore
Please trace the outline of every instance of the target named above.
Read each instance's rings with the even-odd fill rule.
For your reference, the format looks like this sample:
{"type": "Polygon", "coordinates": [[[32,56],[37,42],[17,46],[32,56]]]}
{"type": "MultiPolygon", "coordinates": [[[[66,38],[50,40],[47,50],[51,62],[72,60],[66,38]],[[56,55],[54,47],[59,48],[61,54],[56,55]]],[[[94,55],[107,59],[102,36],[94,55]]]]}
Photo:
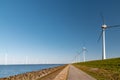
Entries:
{"type": "Polygon", "coordinates": [[[0,78],[37,71],[45,68],[60,66],[62,64],[38,64],[38,65],[0,65],[0,78]]]}

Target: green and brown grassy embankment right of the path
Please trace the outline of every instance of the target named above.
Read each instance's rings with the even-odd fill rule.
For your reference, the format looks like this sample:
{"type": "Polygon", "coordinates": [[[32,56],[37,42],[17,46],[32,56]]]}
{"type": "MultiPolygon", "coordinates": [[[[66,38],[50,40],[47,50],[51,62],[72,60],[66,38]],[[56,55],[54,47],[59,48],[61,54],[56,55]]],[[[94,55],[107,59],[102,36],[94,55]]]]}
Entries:
{"type": "Polygon", "coordinates": [[[120,58],[75,63],[97,80],[120,80],[120,58]]]}

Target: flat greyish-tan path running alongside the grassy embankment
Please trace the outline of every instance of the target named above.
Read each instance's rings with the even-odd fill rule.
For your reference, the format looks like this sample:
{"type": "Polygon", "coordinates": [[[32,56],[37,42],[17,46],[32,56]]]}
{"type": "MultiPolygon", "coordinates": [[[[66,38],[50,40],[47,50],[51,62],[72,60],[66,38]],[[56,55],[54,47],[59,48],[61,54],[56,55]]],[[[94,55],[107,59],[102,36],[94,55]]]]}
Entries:
{"type": "Polygon", "coordinates": [[[96,80],[85,72],[79,70],[78,68],[70,65],[69,74],[67,80],[96,80]]]}

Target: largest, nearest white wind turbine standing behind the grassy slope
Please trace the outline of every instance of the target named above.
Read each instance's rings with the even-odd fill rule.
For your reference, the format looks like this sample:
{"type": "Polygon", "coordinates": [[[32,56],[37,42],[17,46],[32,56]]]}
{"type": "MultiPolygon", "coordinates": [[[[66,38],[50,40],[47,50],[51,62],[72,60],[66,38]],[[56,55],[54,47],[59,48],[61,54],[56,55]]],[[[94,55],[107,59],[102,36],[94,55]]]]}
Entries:
{"type": "Polygon", "coordinates": [[[109,28],[120,27],[120,25],[107,26],[105,24],[103,15],[101,15],[101,17],[102,17],[103,25],[101,26],[102,32],[101,32],[101,35],[100,35],[98,41],[102,37],[102,60],[104,60],[104,59],[106,59],[105,31],[106,31],[106,29],[109,29],[109,28]]]}

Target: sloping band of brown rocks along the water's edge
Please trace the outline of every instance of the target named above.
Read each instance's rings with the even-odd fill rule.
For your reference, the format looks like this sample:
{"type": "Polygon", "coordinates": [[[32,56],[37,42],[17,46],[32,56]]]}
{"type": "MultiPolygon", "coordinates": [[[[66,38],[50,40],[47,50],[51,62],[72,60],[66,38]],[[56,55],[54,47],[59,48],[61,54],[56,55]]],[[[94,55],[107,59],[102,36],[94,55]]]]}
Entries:
{"type": "Polygon", "coordinates": [[[43,69],[43,70],[39,70],[39,71],[28,72],[28,73],[24,73],[24,74],[18,74],[18,75],[6,77],[6,78],[0,78],[0,80],[36,80],[38,78],[47,76],[48,74],[51,74],[59,69],[62,69],[65,66],[66,65],[58,66],[58,67],[54,67],[54,68],[43,69]]]}

